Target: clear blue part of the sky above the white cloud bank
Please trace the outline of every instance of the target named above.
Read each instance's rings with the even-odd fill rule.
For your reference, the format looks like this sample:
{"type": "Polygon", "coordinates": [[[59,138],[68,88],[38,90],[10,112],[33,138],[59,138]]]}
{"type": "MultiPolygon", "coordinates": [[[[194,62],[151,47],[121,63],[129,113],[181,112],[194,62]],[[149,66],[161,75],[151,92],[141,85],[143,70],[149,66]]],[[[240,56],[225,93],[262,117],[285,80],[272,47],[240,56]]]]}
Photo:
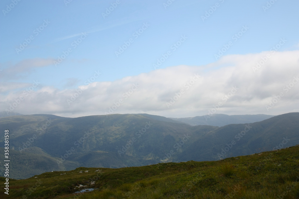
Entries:
{"type": "MultiPolygon", "coordinates": [[[[126,82],[124,79],[129,77],[140,76],[143,73],[153,74],[155,72],[153,64],[157,64],[157,59],[161,59],[162,54],[165,56],[167,51],[170,51],[171,54],[156,69],[165,69],[164,71],[166,71],[173,67],[172,71],[175,71],[176,66],[180,65],[213,66],[213,69],[205,67],[203,70],[201,68],[203,75],[204,72],[221,70],[222,67],[228,67],[231,62],[234,62],[219,63],[215,58],[215,54],[218,54],[219,50],[224,45],[227,46],[229,42],[232,45],[223,53],[224,56],[220,60],[230,55],[249,56],[269,51],[282,38],[286,42],[279,48],[279,52],[296,52],[299,48],[299,27],[296,25],[299,19],[299,2],[295,0],[272,0],[271,2],[175,0],[168,1],[172,3],[167,7],[165,6],[166,0],[104,2],[73,0],[66,2],[68,0],[1,1],[0,23],[4,29],[0,33],[2,38],[0,79],[2,87],[5,87],[5,89],[1,89],[3,98],[1,103],[4,107],[1,107],[1,110],[6,109],[20,95],[18,92],[30,86],[34,80],[40,81],[34,91],[38,93],[45,88],[54,89],[55,92],[68,92],[77,89],[94,75],[94,71],[101,72],[100,77],[95,80],[101,84],[126,82]],[[16,5],[7,9],[7,6],[13,2],[16,5]],[[103,17],[106,9],[113,4],[117,6],[113,10],[111,9],[109,15],[103,17]],[[265,9],[267,4],[269,9],[265,9]],[[206,12],[210,12],[210,16],[206,15],[206,12]],[[205,15],[208,17],[203,20],[202,16],[205,15]],[[36,29],[40,27],[43,30],[39,30],[37,34],[36,29]],[[239,32],[243,27],[248,27],[248,30],[244,31],[243,29],[241,34],[239,32]],[[142,33],[137,37],[135,32],[138,30],[142,33]],[[80,41],[81,33],[87,35],[83,36],[84,39],[81,43],[74,45],[74,41],[80,41]],[[239,36],[237,40],[233,39],[232,37],[238,33],[242,36],[239,36]],[[20,48],[20,44],[26,42],[25,39],[29,41],[30,36],[34,39],[30,39],[30,43],[24,50],[17,52],[16,49],[20,48]],[[185,38],[184,42],[173,51],[173,44],[179,42],[182,36],[185,38]],[[129,42],[130,45],[123,53],[116,56],[115,51],[125,45],[125,42],[129,42]],[[68,56],[55,66],[54,61],[63,56],[63,52],[68,49],[71,49],[68,56]]],[[[166,77],[167,73],[165,73],[166,77]]],[[[165,79],[165,81],[170,80],[165,79]]],[[[147,89],[150,90],[150,88],[147,89]]],[[[221,92],[226,93],[223,90],[221,92]]],[[[95,91],[93,95],[97,95],[96,93],[95,91]]],[[[106,95],[112,96],[108,93],[106,95]]],[[[244,96],[242,97],[244,98],[244,96]]],[[[115,101],[117,99],[118,97],[111,99],[107,97],[106,100],[115,101]]],[[[33,104],[33,101],[30,100],[26,99],[25,101],[28,104],[33,104]]],[[[217,99],[215,100],[217,101],[217,99]]],[[[55,104],[56,102],[49,101],[49,104],[51,103],[55,104]]],[[[80,103],[86,103],[86,101],[80,103]]],[[[50,106],[49,104],[48,106],[50,106]]],[[[19,106],[14,111],[24,114],[36,113],[34,110],[26,109],[25,103],[23,106],[24,109],[19,106]]],[[[34,106],[38,107],[38,105],[34,106]]],[[[120,113],[148,112],[167,115],[166,112],[157,112],[159,106],[157,105],[151,110],[139,108],[134,111],[124,108],[120,113]]],[[[99,108],[100,111],[95,114],[103,114],[103,110],[108,107],[99,108]]],[[[36,110],[40,109],[36,108],[36,110]]],[[[169,109],[166,107],[165,111],[167,110],[169,109]]],[[[282,110],[273,112],[273,115],[283,113],[282,110]]],[[[62,112],[50,108],[43,111],[44,113],[68,116],[89,114],[87,113],[89,111],[79,111],[69,109],[69,107],[62,112]]],[[[196,111],[190,116],[205,115],[205,112],[196,111]]],[[[245,114],[246,109],[243,112],[245,114]]],[[[225,109],[221,113],[241,114],[225,109]]],[[[263,110],[254,113],[265,112],[263,110]]],[[[184,115],[187,116],[187,113],[184,115]]]]}

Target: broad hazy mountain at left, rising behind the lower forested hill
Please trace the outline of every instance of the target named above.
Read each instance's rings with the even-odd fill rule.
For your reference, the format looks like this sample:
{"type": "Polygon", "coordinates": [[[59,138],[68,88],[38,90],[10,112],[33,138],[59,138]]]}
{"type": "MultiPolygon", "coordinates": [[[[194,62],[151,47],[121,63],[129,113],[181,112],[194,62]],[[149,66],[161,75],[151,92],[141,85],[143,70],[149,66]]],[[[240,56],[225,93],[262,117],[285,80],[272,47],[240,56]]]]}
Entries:
{"type": "MultiPolygon", "coordinates": [[[[216,129],[212,126],[191,127],[146,114],[80,118],[22,115],[1,118],[0,128],[10,130],[10,149],[27,150],[34,146],[61,162],[67,160],[76,166],[109,168],[160,162],[169,158],[165,158],[166,154],[175,150],[173,145],[176,142],[186,140],[183,145],[177,146],[177,154],[205,133],[216,129]]],[[[3,139],[0,144],[3,145],[3,139]]],[[[72,168],[66,166],[67,170],[72,168]]]]}

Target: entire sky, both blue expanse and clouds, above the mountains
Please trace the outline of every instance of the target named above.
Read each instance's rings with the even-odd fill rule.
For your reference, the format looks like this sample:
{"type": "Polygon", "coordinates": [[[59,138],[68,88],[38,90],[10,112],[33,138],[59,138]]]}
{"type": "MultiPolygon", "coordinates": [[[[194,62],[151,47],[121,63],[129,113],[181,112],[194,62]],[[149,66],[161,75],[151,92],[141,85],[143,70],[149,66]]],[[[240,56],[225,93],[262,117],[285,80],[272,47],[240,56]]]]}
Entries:
{"type": "Polygon", "coordinates": [[[0,111],[299,110],[299,1],[0,2],[0,111]]]}

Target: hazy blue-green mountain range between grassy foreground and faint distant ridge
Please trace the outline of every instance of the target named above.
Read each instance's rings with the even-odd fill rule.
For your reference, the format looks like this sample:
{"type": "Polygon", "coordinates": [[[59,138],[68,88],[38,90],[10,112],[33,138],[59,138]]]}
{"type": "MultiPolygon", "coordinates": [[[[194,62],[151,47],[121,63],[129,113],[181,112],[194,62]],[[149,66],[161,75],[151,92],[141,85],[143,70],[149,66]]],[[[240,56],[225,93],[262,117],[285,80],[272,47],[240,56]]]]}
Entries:
{"type": "MultiPolygon", "coordinates": [[[[223,127],[190,126],[148,114],[79,118],[39,114],[0,118],[0,127],[10,131],[10,177],[19,179],[80,166],[213,161],[286,148],[299,144],[298,121],[298,112],[223,127]]],[[[4,137],[0,143],[3,147],[4,137]]]]}

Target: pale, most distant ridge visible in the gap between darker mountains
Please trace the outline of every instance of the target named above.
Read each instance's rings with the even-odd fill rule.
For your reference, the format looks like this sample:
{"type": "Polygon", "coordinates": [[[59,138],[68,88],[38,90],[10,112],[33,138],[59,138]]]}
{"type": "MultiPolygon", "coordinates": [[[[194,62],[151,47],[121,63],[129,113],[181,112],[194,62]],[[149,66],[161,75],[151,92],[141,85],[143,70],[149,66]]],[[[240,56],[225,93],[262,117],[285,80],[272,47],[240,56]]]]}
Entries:
{"type": "Polygon", "coordinates": [[[181,121],[191,126],[197,125],[210,125],[216,127],[222,127],[228,124],[248,124],[263,121],[274,117],[274,115],[225,115],[225,114],[213,114],[196,116],[193,118],[170,118],[175,121],[181,121]]]}

